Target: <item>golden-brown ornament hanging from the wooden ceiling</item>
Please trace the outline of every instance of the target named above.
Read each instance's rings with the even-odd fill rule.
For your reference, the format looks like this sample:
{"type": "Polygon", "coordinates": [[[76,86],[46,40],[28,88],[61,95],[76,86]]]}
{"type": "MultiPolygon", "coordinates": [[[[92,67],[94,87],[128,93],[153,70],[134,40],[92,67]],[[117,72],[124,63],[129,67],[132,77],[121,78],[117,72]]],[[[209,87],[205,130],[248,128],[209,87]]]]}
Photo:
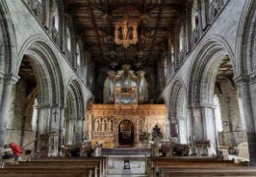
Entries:
{"type": "Polygon", "coordinates": [[[126,15],[122,21],[115,24],[114,42],[127,48],[130,44],[138,42],[138,23],[126,15]]]}

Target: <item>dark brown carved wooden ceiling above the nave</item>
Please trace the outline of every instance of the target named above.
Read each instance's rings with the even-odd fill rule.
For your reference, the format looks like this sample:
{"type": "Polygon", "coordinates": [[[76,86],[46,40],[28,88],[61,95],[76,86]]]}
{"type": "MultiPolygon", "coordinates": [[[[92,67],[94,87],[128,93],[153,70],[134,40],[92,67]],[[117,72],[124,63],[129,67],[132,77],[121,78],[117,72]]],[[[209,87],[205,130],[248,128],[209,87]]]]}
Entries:
{"type": "Polygon", "coordinates": [[[66,8],[95,61],[149,64],[166,49],[185,0],[66,0],[66,8]],[[139,24],[139,41],[127,49],[114,43],[114,25],[125,15],[139,24]]]}

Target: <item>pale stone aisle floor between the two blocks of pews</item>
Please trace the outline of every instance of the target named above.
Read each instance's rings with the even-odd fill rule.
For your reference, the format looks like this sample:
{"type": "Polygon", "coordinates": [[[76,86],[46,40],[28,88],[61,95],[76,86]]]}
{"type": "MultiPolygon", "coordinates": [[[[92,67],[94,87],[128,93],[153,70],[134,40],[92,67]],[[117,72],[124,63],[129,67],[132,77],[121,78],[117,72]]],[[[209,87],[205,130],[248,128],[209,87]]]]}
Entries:
{"type": "Polygon", "coordinates": [[[146,177],[145,155],[108,155],[107,177],[146,177]],[[130,169],[124,169],[124,161],[129,161],[130,169]]]}

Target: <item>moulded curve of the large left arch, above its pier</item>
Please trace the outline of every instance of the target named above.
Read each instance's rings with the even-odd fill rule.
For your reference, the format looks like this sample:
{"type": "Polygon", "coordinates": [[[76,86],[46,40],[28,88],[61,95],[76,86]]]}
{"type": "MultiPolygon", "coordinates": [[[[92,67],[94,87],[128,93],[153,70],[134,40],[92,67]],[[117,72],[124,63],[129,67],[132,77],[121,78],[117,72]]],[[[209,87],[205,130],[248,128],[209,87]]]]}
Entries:
{"type": "Polygon", "coordinates": [[[17,75],[24,56],[29,56],[35,72],[40,76],[38,84],[41,91],[38,102],[54,106],[64,105],[61,69],[50,45],[38,36],[29,38],[19,53],[17,75]]]}

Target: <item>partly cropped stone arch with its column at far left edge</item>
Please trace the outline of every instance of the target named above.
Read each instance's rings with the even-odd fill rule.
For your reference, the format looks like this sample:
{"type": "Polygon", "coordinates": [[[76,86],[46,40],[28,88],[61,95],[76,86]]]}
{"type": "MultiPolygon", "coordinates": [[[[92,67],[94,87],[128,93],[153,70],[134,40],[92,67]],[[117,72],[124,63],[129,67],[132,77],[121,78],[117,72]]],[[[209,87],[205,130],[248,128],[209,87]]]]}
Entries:
{"type": "MultiPolygon", "coordinates": [[[[6,124],[10,111],[13,86],[19,80],[16,69],[16,35],[10,13],[4,1],[0,2],[0,154],[4,147],[6,124]]],[[[0,162],[2,155],[0,155],[0,162]]]]}

